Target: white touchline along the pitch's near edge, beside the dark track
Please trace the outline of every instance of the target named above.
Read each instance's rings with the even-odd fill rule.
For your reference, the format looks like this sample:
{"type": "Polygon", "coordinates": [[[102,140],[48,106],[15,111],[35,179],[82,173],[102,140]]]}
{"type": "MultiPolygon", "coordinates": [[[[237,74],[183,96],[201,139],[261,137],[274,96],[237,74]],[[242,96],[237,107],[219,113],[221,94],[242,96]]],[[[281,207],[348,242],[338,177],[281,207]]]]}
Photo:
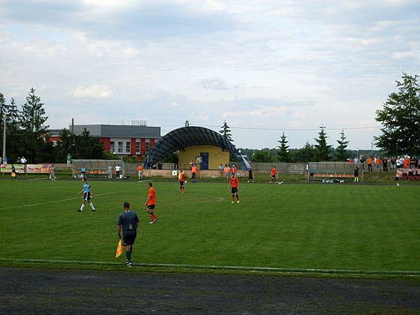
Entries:
{"type": "MultiPolygon", "coordinates": [[[[43,262],[63,263],[80,265],[124,265],[123,262],[98,262],[79,260],[42,260],[42,259],[13,259],[0,258],[0,261],[8,262],[43,262]]],[[[412,276],[420,277],[420,272],[402,270],[351,270],[351,269],[305,269],[305,268],[276,268],[276,267],[244,267],[244,266],[217,266],[217,265],[176,265],[176,264],[148,264],[135,263],[133,267],[169,267],[178,269],[228,269],[248,272],[274,272],[280,274],[335,274],[335,275],[358,275],[358,276],[412,276]]]]}

